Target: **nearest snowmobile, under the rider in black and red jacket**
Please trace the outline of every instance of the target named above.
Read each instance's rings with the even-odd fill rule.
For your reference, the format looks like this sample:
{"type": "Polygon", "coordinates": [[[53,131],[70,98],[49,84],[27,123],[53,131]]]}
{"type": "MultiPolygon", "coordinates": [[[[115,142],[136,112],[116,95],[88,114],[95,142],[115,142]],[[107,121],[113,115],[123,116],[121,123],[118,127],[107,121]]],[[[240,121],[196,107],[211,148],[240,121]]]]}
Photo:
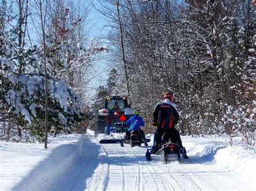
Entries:
{"type": "Polygon", "coordinates": [[[154,152],[152,148],[147,148],[146,159],[148,161],[152,160],[151,154],[161,155],[165,163],[173,160],[180,161],[180,154],[182,154],[184,158],[188,158],[186,148],[181,148],[178,142],[172,142],[170,136],[166,134],[161,137],[161,148],[158,151],[154,152]]]}

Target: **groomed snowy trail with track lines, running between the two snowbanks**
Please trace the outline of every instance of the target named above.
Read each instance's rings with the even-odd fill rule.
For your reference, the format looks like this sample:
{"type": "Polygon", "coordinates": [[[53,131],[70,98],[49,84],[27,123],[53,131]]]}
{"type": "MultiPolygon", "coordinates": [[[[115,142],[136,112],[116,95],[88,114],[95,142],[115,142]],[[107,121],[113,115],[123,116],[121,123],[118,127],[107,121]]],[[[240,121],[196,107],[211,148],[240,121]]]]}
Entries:
{"type": "MultiPolygon", "coordinates": [[[[207,157],[188,155],[164,164],[160,156],[146,161],[145,146],[99,144],[87,138],[82,154],[51,190],[250,190],[238,173],[224,169],[207,157]]],[[[216,146],[213,152],[221,147],[216,146]]]]}

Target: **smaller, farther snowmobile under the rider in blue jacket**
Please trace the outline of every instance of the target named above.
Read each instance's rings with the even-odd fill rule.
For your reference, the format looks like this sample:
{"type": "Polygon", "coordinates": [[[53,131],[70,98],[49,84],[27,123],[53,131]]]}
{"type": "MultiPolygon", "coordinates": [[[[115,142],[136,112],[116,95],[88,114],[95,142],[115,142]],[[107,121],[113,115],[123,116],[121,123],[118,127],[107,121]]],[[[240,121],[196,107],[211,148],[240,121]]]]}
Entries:
{"type": "MultiPolygon", "coordinates": [[[[146,139],[146,142],[150,142],[150,139],[146,139]]],[[[144,145],[147,146],[147,143],[145,143],[144,139],[142,138],[142,135],[140,135],[140,132],[138,130],[131,131],[130,139],[123,139],[120,145],[124,147],[124,143],[130,144],[131,147],[142,146],[142,143],[144,143],[144,145]]]]}

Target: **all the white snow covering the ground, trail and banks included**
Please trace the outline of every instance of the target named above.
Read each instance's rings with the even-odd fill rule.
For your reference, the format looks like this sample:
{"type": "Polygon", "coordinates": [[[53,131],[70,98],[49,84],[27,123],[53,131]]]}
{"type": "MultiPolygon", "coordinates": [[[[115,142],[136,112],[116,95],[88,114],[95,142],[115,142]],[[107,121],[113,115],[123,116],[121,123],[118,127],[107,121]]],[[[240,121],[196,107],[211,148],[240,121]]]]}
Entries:
{"type": "Polygon", "coordinates": [[[159,155],[146,161],[150,146],[99,144],[88,133],[51,138],[47,150],[0,142],[0,190],[256,189],[255,147],[230,147],[226,137],[181,136],[190,159],[164,164],[159,155]]]}

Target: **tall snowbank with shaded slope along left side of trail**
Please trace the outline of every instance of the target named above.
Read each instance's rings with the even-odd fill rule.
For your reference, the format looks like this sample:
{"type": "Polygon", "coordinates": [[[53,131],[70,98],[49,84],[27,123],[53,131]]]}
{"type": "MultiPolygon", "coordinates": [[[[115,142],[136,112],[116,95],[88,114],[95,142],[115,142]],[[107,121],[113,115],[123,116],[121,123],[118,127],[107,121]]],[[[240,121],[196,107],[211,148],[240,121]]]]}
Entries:
{"type": "Polygon", "coordinates": [[[1,190],[47,190],[82,150],[80,135],[49,140],[47,150],[43,144],[0,142],[1,190]]]}

